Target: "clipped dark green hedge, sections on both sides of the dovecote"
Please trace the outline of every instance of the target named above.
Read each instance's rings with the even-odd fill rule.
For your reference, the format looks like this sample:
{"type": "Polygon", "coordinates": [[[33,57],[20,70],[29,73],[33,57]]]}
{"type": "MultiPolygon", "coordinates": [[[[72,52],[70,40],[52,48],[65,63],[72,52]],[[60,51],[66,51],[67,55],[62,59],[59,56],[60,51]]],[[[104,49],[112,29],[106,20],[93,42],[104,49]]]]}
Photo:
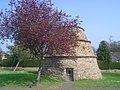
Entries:
{"type": "MultiPolygon", "coordinates": [[[[1,63],[0,66],[3,67],[15,67],[17,64],[17,60],[13,58],[8,58],[4,59],[1,63]]],[[[103,62],[103,61],[98,61],[99,68],[101,70],[106,70],[106,69],[120,69],[120,62],[110,62],[110,66],[103,62]]],[[[23,60],[19,64],[20,67],[38,67],[39,62],[37,60],[23,60]]]]}

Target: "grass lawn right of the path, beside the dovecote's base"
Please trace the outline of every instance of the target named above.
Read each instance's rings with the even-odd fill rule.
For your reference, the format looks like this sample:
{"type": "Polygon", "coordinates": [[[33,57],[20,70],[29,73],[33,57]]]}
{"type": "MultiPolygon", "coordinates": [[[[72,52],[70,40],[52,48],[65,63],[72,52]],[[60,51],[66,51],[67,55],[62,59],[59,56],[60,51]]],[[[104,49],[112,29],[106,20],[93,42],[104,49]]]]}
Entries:
{"type": "Polygon", "coordinates": [[[75,87],[120,87],[120,73],[104,72],[101,80],[78,80],[75,87]]]}

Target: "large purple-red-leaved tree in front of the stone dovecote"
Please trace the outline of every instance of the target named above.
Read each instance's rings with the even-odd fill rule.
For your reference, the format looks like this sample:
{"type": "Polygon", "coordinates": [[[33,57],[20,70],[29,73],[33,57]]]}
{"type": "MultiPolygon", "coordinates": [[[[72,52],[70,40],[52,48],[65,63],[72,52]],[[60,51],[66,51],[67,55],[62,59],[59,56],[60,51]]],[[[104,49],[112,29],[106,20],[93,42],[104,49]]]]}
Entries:
{"type": "Polygon", "coordinates": [[[78,17],[72,19],[53,8],[51,0],[11,0],[11,10],[1,12],[2,38],[14,39],[39,60],[36,85],[40,82],[46,54],[75,56],[78,17]]]}

